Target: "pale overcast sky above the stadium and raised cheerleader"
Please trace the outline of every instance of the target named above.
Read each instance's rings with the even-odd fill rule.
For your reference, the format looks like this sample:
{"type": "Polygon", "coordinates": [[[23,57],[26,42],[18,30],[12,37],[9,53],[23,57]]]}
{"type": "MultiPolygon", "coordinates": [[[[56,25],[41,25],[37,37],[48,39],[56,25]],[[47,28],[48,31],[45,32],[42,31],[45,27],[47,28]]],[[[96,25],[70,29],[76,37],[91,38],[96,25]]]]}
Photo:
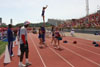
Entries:
{"type": "MultiPolygon", "coordinates": [[[[96,12],[100,0],[89,0],[89,13],[96,12]]],[[[26,20],[42,22],[42,7],[48,5],[45,16],[54,19],[80,18],[86,15],[86,0],[0,0],[0,17],[4,23],[22,23],[26,20]]],[[[100,6],[100,5],[99,5],[100,6]]]]}

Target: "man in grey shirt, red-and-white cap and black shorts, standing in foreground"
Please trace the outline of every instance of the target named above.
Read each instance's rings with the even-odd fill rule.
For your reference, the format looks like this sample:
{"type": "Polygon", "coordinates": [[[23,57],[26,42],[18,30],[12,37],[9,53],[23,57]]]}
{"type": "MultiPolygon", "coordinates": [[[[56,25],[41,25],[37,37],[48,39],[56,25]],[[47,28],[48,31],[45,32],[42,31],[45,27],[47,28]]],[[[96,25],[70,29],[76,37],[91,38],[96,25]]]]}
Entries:
{"type": "Polygon", "coordinates": [[[29,26],[30,22],[25,21],[24,26],[21,27],[20,29],[20,50],[21,50],[21,55],[20,55],[20,62],[19,62],[19,67],[25,67],[31,65],[28,61],[29,57],[29,48],[28,48],[28,41],[27,41],[27,27],[29,26]],[[22,64],[23,57],[26,57],[26,64],[22,64]]]}

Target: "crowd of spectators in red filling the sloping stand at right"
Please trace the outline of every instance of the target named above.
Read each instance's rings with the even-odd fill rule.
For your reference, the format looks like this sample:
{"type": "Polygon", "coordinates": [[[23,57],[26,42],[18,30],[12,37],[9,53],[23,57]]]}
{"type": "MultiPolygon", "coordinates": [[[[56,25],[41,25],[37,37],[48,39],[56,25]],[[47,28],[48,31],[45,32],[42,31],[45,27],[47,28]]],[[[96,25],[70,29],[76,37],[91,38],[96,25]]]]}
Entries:
{"type": "Polygon", "coordinates": [[[72,19],[70,22],[65,21],[59,25],[64,28],[99,28],[100,29],[100,13],[93,13],[80,19],[72,19]]]}

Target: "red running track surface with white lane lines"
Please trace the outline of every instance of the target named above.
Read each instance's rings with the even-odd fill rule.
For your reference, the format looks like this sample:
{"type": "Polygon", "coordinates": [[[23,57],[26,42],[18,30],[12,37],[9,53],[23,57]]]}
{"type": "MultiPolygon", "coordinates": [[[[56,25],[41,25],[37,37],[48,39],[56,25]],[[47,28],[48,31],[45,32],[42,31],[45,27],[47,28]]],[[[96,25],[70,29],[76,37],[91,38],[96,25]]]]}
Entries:
{"type": "MultiPolygon", "coordinates": [[[[32,62],[29,67],[100,67],[100,48],[94,47],[92,41],[74,37],[64,37],[63,40],[60,42],[62,51],[53,48],[51,38],[46,38],[48,47],[40,49],[38,36],[29,33],[29,60],[32,62]],[[63,40],[67,40],[68,43],[63,43],[63,40]],[[72,43],[75,40],[77,44],[72,43]]],[[[18,67],[17,48],[13,48],[15,56],[11,63],[4,65],[2,57],[0,67],[18,67]]]]}

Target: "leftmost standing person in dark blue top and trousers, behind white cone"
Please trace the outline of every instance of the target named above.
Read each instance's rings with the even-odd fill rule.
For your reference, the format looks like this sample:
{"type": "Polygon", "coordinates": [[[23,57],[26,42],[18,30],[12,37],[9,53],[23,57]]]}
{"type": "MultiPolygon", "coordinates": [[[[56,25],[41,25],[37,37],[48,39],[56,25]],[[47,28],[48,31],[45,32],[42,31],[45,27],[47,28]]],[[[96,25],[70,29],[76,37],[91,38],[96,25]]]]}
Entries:
{"type": "Polygon", "coordinates": [[[12,25],[9,24],[8,25],[8,30],[7,30],[7,38],[8,38],[8,50],[9,50],[9,54],[10,56],[14,56],[13,55],[13,32],[11,30],[12,25]]]}

